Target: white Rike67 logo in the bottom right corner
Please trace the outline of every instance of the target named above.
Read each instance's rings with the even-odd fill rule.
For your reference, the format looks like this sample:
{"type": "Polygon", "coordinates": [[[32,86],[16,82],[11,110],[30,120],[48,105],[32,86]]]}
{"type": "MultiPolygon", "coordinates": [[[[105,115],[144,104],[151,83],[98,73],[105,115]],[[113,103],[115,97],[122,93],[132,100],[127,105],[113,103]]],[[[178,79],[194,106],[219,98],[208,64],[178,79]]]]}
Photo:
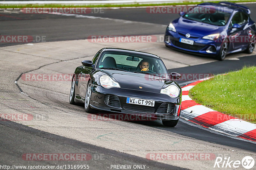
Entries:
{"type": "Polygon", "coordinates": [[[254,159],[251,156],[245,156],[242,161],[240,160],[232,160],[230,157],[225,157],[224,159],[222,157],[216,157],[214,168],[238,168],[241,167],[241,165],[245,169],[251,169],[254,166],[254,159]]]}

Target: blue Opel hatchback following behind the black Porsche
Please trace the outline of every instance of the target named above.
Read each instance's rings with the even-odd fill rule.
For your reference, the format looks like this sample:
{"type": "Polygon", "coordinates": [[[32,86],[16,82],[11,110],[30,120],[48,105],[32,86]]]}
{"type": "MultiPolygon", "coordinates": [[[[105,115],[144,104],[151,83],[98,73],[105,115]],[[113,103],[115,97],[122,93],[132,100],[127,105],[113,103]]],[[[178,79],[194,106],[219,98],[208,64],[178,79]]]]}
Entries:
{"type": "Polygon", "coordinates": [[[218,60],[229,53],[252,53],[256,25],[250,13],[248,7],[230,2],[198,4],[168,25],[165,46],[218,60]]]}

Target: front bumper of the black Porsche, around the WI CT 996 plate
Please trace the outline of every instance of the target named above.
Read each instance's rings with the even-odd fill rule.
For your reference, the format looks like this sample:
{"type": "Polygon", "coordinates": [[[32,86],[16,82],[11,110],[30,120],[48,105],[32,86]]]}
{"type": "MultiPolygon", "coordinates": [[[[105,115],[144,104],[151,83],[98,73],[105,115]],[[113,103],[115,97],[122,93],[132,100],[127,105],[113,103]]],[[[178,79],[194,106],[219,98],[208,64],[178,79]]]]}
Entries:
{"type": "Polygon", "coordinates": [[[121,114],[131,114],[131,115],[151,117],[152,120],[154,119],[177,120],[180,117],[181,97],[174,99],[164,94],[144,92],[144,91],[131,90],[131,89],[122,89],[122,88],[104,89],[101,86],[93,85],[90,106],[91,108],[97,109],[97,110],[105,110],[105,111],[116,112],[121,114]],[[106,101],[109,101],[109,94],[115,95],[118,97],[119,105],[116,102],[117,100],[115,100],[115,102],[117,103],[116,105],[115,105],[115,102],[113,102],[114,104],[113,103],[109,104],[108,102],[106,102],[106,101]],[[155,100],[155,106],[149,107],[149,106],[128,104],[126,103],[127,97],[155,100]],[[170,111],[170,113],[158,113],[159,110],[161,111],[161,109],[159,109],[159,106],[162,103],[170,103],[169,106],[171,106],[171,103],[172,103],[173,104],[172,111],[170,111]]]}

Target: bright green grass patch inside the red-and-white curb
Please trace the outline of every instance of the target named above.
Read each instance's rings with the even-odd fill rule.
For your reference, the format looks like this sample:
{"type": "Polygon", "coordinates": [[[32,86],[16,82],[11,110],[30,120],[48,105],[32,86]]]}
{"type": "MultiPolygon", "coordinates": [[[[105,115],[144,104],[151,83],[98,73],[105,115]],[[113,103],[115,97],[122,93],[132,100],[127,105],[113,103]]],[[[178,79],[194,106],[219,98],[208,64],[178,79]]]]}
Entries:
{"type": "Polygon", "coordinates": [[[216,75],[189,90],[189,96],[204,106],[256,124],[256,67],[216,75]]]}

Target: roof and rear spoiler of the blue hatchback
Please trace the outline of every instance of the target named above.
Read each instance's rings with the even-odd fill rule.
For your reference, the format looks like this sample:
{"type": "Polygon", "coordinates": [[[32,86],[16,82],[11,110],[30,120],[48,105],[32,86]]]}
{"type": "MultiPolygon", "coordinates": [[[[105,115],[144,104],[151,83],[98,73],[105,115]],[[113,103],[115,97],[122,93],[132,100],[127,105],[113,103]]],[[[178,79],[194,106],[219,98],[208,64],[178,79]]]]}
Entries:
{"type": "Polygon", "coordinates": [[[218,7],[219,10],[223,10],[227,13],[232,13],[233,11],[241,11],[241,10],[246,12],[247,14],[251,13],[250,9],[244,5],[225,2],[225,1],[219,2],[218,4],[206,2],[206,3],[198,4],[198,6],[207,6],[207,7],[213,7],[213,8],[218,7]]]}

